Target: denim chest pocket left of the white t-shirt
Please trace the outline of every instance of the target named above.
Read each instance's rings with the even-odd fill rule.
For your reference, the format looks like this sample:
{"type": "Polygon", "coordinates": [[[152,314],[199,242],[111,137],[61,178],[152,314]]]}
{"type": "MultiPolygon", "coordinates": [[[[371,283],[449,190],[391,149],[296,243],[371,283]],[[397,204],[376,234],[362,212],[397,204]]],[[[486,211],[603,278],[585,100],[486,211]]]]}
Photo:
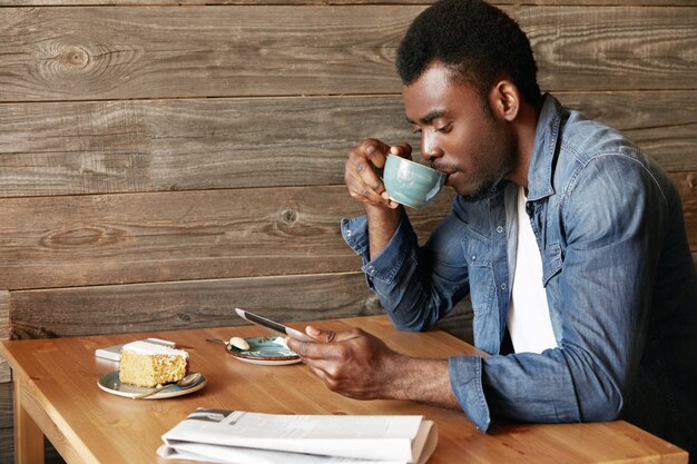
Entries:
{"type": "Polygon", "coordinates": [[[470,298],[475,314],[488,313],[494,300],[493,269],[491,267],[491,240],[469,233],[462,240],[464,259],[468,263],[470,298]]]}

